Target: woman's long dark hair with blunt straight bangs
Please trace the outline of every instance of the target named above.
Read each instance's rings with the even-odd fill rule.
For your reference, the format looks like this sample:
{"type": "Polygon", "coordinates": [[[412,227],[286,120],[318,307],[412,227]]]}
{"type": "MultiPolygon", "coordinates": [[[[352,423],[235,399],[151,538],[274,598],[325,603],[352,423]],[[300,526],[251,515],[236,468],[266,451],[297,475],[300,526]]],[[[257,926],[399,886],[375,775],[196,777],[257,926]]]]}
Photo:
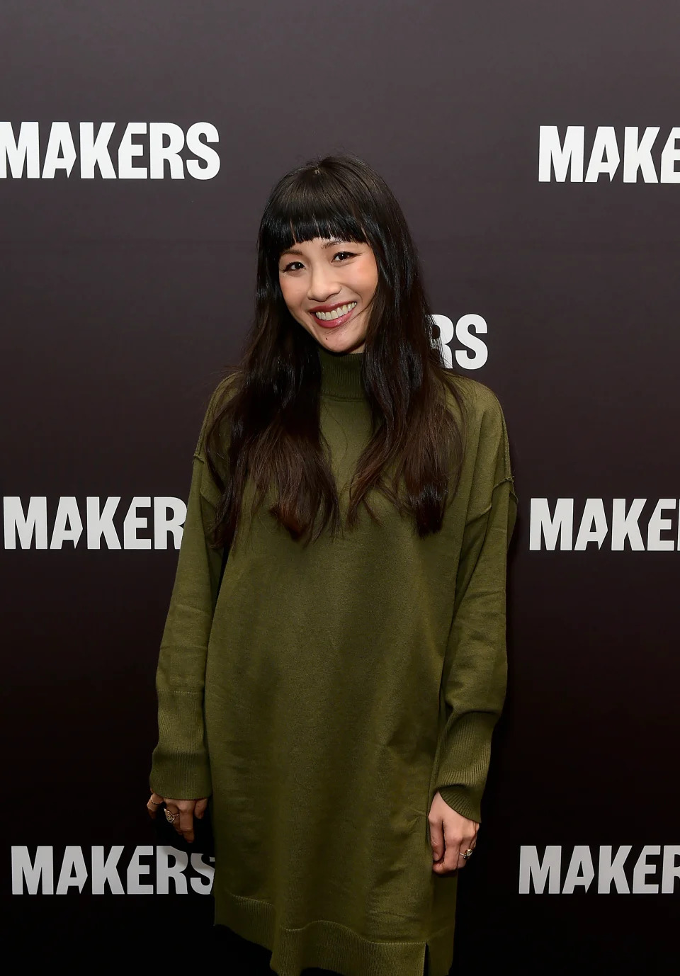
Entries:
{"type": "Polygon", "coordinates": [[[319,347],[289,312],[279,284],[281,254],[314,237],[368,243],[379,269],[361,372],[373,433],[353,474],[346,526],[355,525],[362,503],[377,518],[367,497],[375,489],[413,516],[420,537],[438,532],[458,485],[465,436],[460,378],[446,367],[436,342],[439,330],[402,209],[357,156],[313,159],[286,174],[267,200],[258,234],[255,320],[207,426],[206,459],[221,493],[215,548],[234,540],[249,475],[252,513],[271,492],[268,510],[294,540],[307,545],[329,524],[333,533],[340,529],[337,486],[319,426],[319,347]],[[447,388],[460,413],[452,411],[447,388]]]}

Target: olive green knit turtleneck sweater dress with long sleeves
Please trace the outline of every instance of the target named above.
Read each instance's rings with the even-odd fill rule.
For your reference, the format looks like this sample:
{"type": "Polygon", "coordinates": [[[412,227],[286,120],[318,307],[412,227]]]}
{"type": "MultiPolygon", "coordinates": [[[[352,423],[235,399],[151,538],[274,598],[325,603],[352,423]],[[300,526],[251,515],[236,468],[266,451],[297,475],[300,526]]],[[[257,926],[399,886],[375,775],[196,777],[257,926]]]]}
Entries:
{"type": "MultiPolygon", "coordinates": [[[[319,355],[344,512],[370,434],[363,353],[319,355]]],[[[307,548],[262,506],[220,584],[203,437],[221,384],[196,445],[150,785],[212,797],[215,920],[270,949],[279,976],[422,976],[426,951],[430,976],[452,963],[458,874],[432,871],[427,814],[439,791],[480,821],[517,504],[499,401],[458,382],[469,403],[460,487],[424,539],[378,492],[381,525],[361,507],[355,529],[307,548]]],[[[247,486],[247,512],[251,498],[247,486]]]]}

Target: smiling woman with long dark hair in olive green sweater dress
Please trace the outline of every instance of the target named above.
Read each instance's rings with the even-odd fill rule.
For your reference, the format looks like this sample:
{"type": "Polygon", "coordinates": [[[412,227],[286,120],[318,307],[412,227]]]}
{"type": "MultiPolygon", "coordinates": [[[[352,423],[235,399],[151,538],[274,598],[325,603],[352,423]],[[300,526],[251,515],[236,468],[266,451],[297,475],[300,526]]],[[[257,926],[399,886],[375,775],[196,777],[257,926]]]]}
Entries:
{"type": "Polygon", "coordinates": [[[148,801],[187,840],[211,804],[216,923],[279,976],[449,971],[516,501],[387,185],[352,155],[287,174],[193,457],[148,801]]]}

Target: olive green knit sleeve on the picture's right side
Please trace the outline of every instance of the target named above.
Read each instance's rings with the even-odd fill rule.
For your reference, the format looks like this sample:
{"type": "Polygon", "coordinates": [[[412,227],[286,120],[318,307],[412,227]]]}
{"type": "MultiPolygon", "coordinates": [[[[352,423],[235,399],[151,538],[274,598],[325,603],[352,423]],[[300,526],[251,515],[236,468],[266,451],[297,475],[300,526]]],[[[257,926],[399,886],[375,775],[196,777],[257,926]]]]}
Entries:
{"type": "Polygon", "coordinates": [[[507,430],[496,397],[479,431],[462,534],[454,615],[442,677],[446,725],[435,790],[463,817],[480,823],[491,740],[507,684],[505,581],[517,497],[507,430]]]}

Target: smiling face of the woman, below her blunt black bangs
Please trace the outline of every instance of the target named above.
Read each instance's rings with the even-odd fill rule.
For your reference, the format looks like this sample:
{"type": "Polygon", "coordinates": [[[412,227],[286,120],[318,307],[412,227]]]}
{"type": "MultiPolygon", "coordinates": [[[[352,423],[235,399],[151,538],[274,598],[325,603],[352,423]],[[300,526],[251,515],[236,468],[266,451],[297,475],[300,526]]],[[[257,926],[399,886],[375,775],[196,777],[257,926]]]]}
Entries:
{"type": "Polygon", "coordinates": [[[378,264],[369,244],[335,237],[294,244],[279,258],[279,282],[291,315],[320,346],[331,352],[363,351],[378,286],[378,264]]]}

